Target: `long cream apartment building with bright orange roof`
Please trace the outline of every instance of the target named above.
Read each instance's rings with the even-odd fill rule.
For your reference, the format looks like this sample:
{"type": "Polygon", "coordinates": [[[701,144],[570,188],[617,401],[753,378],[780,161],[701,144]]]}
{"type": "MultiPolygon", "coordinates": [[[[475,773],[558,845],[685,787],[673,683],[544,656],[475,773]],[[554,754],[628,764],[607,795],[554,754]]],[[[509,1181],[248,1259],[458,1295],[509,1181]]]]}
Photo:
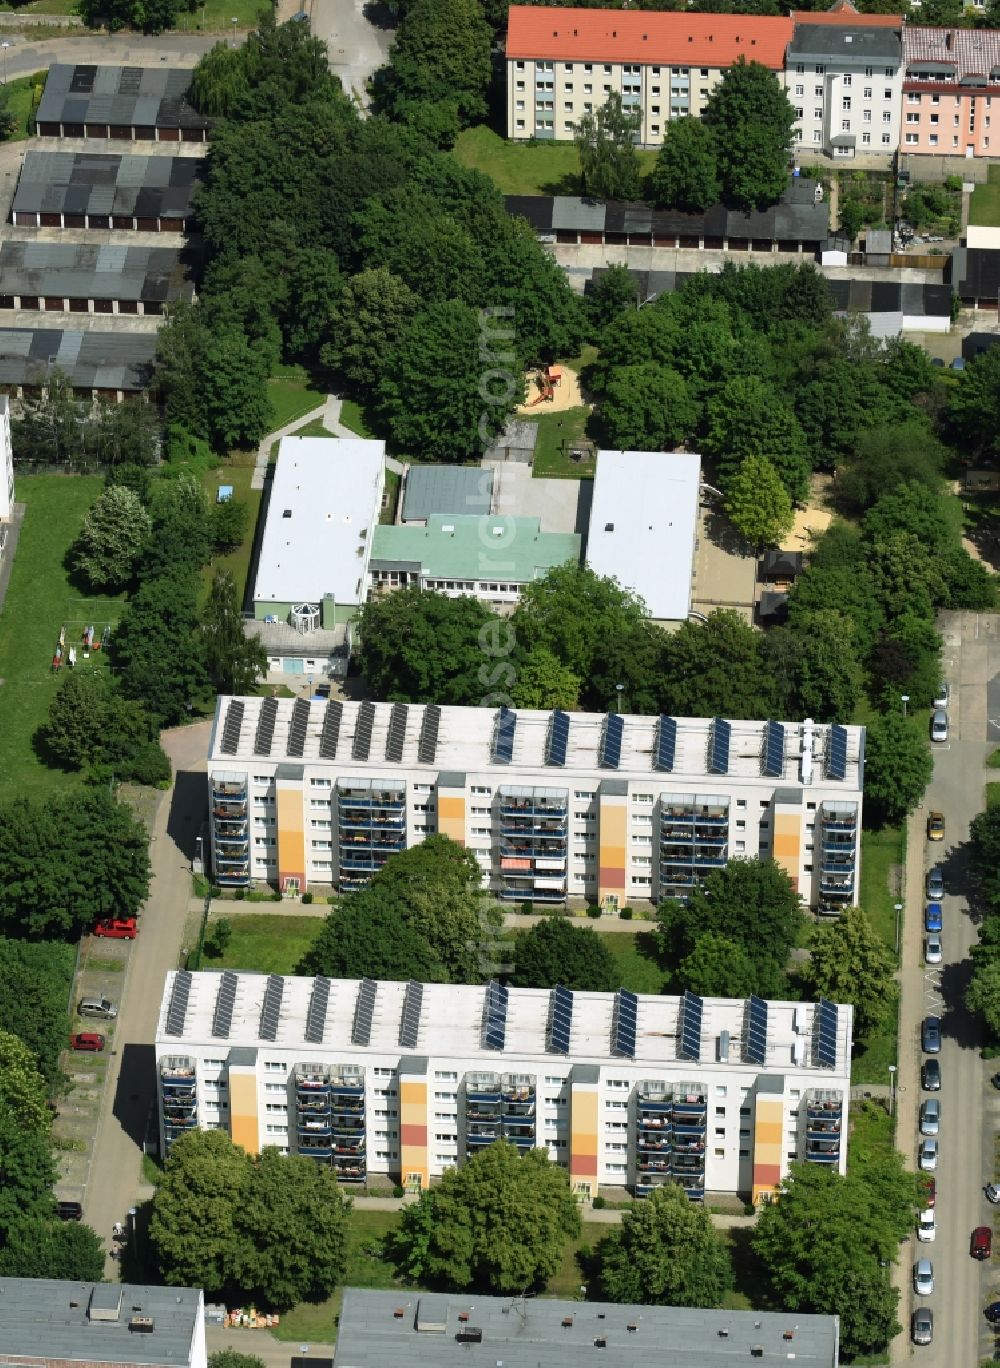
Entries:
{"type": "Polygon", "coordinates": [[[636,142],[658,146],[670,119],[698,115],[743,56],[778,75],[792,21],[512,5],[508,137],[569,141],[616,92],[637,116],[636,142]]]}

